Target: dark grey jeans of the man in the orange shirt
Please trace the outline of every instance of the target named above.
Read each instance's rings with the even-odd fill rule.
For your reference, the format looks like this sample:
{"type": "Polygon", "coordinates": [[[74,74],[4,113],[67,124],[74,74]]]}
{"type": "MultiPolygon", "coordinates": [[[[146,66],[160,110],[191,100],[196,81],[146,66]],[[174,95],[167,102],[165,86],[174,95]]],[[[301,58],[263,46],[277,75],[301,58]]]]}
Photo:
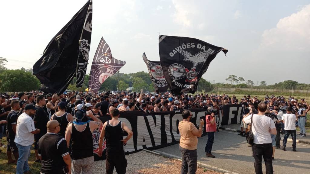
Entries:
{"type": "Polygon", "coordinates": [[[181,174],[195,174],[197,171],[197,149],[188,150],[179,146],[182,154],[181,174]]]}

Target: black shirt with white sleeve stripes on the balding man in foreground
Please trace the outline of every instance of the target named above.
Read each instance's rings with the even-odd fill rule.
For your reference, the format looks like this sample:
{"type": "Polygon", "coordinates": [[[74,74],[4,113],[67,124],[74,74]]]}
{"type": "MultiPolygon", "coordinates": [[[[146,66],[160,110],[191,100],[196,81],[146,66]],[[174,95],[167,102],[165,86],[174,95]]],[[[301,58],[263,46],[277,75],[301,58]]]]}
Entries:
{"type": "Polygon", "coordinates": [[[42,158],[42,173],[64,173],[63,156],[69,154],[67,141],[55,133],[46,133],[38,142],[38,155],[42,158]]]}

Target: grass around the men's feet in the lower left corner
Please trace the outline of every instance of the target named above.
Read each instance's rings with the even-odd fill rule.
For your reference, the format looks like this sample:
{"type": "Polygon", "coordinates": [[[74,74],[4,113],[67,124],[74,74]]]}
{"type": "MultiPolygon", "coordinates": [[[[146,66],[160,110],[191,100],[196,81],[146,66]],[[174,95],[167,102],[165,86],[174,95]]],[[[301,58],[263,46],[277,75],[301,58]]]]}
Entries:
{"type": "MultiPolygon", "coordinates": [[[[16,173],[16,165],[15,163],[7,164],[7,140],[6,137],[3,137],[0,142],[5,144],[5,147],[0,147],[0,174],[14,174],[16,173]]],[[[40,174],[40,163],[35,163],[35,154],[34,150],[31,150],[30,157],[28,160],[30,170],[33,174],[40,174]]],[[[14,159],[14,155],[12,154],[12,158],[14,159]]]]}

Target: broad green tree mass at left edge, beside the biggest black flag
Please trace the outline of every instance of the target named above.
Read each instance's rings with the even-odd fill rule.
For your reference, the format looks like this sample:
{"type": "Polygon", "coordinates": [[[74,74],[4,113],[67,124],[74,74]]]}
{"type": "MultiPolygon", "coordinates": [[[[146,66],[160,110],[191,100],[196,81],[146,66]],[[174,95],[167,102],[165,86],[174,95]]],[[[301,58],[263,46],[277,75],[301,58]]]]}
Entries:
{"type": "Polygon", "coordinates": [[[3,70],[0,73],[0,91],[31,91],[40,89],[40,81],[30,72],[3,70]]]}

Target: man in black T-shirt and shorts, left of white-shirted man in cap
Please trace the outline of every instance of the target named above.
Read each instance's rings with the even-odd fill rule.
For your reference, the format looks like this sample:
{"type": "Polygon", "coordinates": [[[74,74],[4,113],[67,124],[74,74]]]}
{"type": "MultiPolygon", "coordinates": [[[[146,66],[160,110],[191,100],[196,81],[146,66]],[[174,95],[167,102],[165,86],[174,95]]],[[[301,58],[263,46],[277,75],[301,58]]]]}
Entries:
{"type": "Polygon", "coordinates": [[[14,142],[16,134],[17,112],[20,109],[19,102],[17,100],[11,102],[12,110],[7,115],[7,158],[8,164],[14,163],[18,159],[18,149],[14,142]],[[15,160],[12,159],[11,153],[13,152],[15,160]]]}

